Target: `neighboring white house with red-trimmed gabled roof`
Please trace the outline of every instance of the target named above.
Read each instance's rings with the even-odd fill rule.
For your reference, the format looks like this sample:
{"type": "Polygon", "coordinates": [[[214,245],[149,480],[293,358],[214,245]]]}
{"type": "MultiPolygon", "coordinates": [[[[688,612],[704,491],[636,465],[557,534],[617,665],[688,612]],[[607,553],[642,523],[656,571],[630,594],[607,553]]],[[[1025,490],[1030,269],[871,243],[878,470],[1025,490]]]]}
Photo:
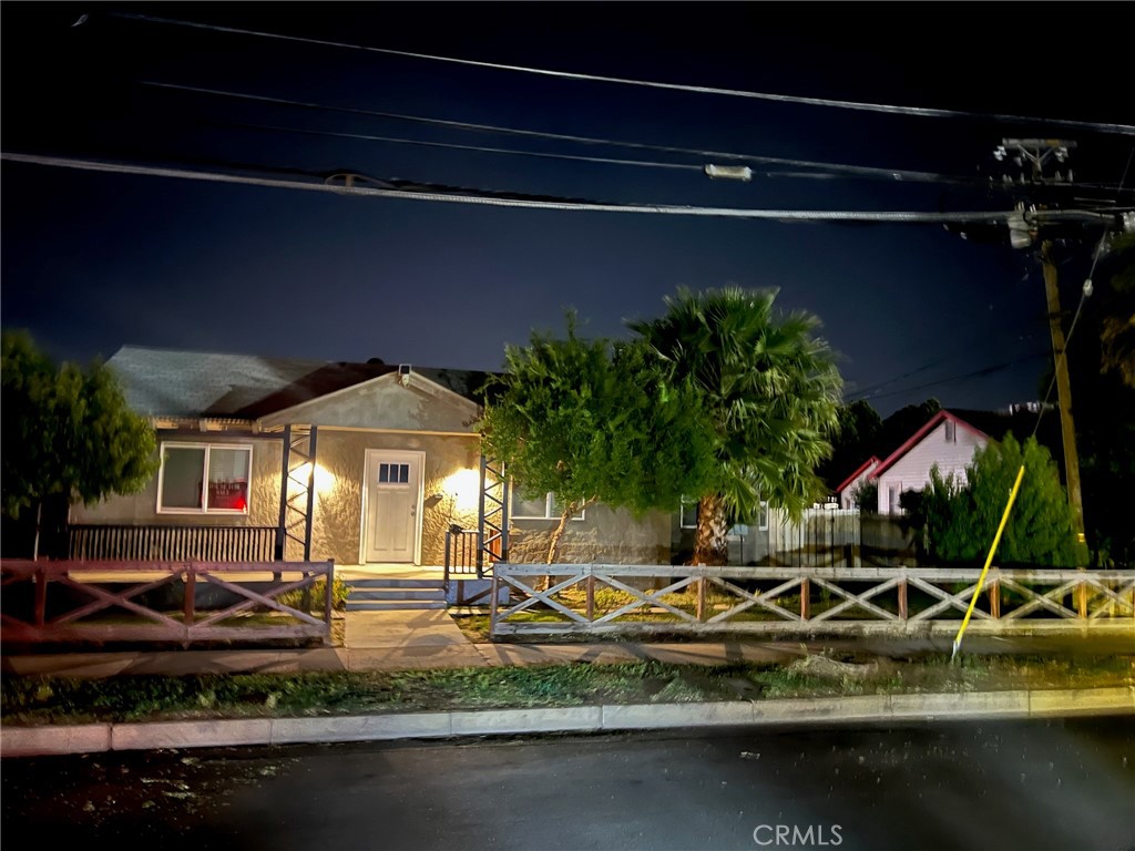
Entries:
{"type": "Polygon", "coordinates": [[[1035,419],[1029,412],[939,411],[882,461],[873,456],[851,473],[838,489],[840,504],[848,507],[864,483],[874,482],[878,487],[877,513],[901,514],[902,492],[925,488],[932,467],[936,465],[943,477],[952,473],[955,481],[964,485],[966,467],[978,449],[1009,431],[1024,439],[1035,419]]]}

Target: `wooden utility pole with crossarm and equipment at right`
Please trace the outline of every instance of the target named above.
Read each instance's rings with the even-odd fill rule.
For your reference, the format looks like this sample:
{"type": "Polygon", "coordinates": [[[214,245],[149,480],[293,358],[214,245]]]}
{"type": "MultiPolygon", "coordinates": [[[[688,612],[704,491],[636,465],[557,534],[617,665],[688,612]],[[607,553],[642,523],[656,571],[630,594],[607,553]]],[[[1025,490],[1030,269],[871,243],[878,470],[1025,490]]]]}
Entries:
{"type": "MultiPolygon", "coordinates": [[[[1068,159],[1068,152],[1076,148],[1075,142],[1056,138],[1006,138],[1001,141],[993,155],[999,161],[1011,158],[1014,162],[1028,168],[1029,175],[1019,177],[1022,184],[1033,186],[1048,183],[1071,183],[1073,172],[1068,168],[1066,175],[1056,171],[1054,179],[1044,177],[1044,166],[1050,160],[1062,163],[1068,159]]],[[[1007,176],[1007,183],[1011,179],[1007,176]]],[[[1027,247],[1033,244],[1036,230],[1025,224],[1024,207],[1018,205],[1018,221],[1010,220],[1009,236],[1015,247],[1027,247]]],[[[1071,416],[1071,382],[1068,379],[1068,356],[1066,339],[1060,314],[1060,290],[1056,261],[1052,256],[1052,241],[1041,242],[1041,266],[1044,272],[1044,290],[1049,310],[1049,331],[1052,335],[1052,364],[1056,370],[1057,399],[1060,407],[1060,432],[1063,438],[1065,481],[1068,486],[1068,504],[1073,511],[1074,531],[1079,544],[1085,542],[1084,536],[1084,502],[1079,489],[1079,456],[1076,453],[1076,428],[1071,416]]]]}

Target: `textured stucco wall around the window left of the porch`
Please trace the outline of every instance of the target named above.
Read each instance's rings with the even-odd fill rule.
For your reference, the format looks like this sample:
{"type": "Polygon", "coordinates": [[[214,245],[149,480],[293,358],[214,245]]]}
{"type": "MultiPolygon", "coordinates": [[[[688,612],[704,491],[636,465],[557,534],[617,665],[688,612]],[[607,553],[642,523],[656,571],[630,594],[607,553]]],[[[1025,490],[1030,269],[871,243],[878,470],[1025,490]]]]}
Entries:
{"type": "Polygon", "coordinates": [[[279,438],[252,438],[242,435],[171,435],[158,432],[162,443],[229,444],[252,447],[252,485],[247,514],[170,514],[158,512],[158,475],[138,494],[112,496],[93,506],[72,508],[73,523],[125,525],[232,525],[274,526],[279,521],[279,473],[283,444],[279,438]]]}

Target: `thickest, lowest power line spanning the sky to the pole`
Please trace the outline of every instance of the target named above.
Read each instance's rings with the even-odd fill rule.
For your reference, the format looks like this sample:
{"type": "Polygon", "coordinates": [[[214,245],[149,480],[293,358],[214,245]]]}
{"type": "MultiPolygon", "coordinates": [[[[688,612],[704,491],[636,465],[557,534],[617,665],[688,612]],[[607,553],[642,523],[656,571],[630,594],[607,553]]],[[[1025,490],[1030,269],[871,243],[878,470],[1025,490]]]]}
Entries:
{"type": "MultiPolygon", "coordinates": [[[[516,207],[535,210],[571,210],[587,212],[621,212],[621,213],[655,213],[662,216],[720,217],[733,219],[753,219],[765,221],[801,221],[801,222],[868,222],[894,225],[941,225],[950,222],[985,222],[1003,224],[1009,212],[953,212],[927,213],[911,211],[871,212],[859,210],[750,210],[721,207],[682,207],[673,204],[612,204],[580,201],[532,200],[497,193],[495,195],[468,195],[455,192],[418,192],[407,189],[381,189],[368,186],[331,185],[328,183],[306,183],[302,180],[285,180],[281,178],[253,177],[247,175],[221,174],[217,171],[187,170],[168,167],[138,166],[121,162],[104,162],[66,157],[42,157],[37,154],[0,153],[0,160],[23,162],[35,166],[69,168],[82,171],[102,171],[110,174],[141,175],[148,177],[173,177],[187,180],[204,180],[208,183],[243,184],[272,188],[304,189],[338,195],[355,195],[361,197],[404,199],[413,201],[436,201],[443,203],[482,204],[488,207],[516,207]]],[[[372,180],[364,175],[345,175],[348,178],[372,180]]],[[[381,183],[381,182],[378,182],[381,183]]],[[[447,188],[447,187],[439,187],[447,188]]],[[[464,189],[464,192],[474,192],[464,189]]],[[[1031,216],[1041,221],[1082,220],[1111,222],[1113,217],[1092,210],[1039,210],[1031,216]]]]}

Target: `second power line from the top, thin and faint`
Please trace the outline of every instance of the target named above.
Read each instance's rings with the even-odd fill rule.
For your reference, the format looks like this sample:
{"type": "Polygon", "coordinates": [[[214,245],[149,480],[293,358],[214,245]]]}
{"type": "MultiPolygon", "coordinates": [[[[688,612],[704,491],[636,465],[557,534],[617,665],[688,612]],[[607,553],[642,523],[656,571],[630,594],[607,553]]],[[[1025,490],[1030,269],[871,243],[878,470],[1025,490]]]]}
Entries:
{"type": "Polygon", "coordinates": [[[698,157],[700,159],[734,160],[741,162],[762,163],[767,166],[792,166],[794,168],[815,168],[836,174],[847,174],[856,177],[877,177],[889,180],[910,180],[919,183],[959,183],[978,184],[980,180],[957,177],[952,175],[934,174],[930,171],[914,171],[910,169],[876,168],[871,166],[849,166],[835,162],[816,162],[813,160],[797,160],[783,157],[764,157],[753,153],[737,153],[732,151],[715,151],[712,149],[682,148],[678,145],[658,145],[647,142],[623,142],[613,138],[597,136],[578,136],[566,133],[548,133],[544,130],[530,130],[519,127],[502,127],[491,124],[474,124],[471,121],[455,121],[445,118],[430,118],[427,116],[414,116],[402,112],[386,112],[382,110],[362,109],[358,107],[335,107],[313,101],[297,101],[287,98],[272,98],[262,94],[250,94],[246,92],[232,92],[222,89],[205,89],[202,86],[178,85],[176,83],[162,83],[158,81],[137,81],[138,85],[151,89],[166,89],[178,92],[190,92],[193,94],[209,94],[218,98],[230,98],[235,100],[253,101],[258,103],[271,103],[281,107],[299,107],[301,109],[323,110],[328,112],[343,112],[346,115],[368,116],[371,118],[385,118],[397,121],[410,121],[426,124],[435,127],[448,127],[459,130],[470,130],[478,133],[496,133],[510,136],[524,136],[529,138],[544,138],[557,142],[572,142],[587,145],[607,145],[612,148],[627,148],[638,151],[657,151],[661,153],[681,153],[698,157]]]}

